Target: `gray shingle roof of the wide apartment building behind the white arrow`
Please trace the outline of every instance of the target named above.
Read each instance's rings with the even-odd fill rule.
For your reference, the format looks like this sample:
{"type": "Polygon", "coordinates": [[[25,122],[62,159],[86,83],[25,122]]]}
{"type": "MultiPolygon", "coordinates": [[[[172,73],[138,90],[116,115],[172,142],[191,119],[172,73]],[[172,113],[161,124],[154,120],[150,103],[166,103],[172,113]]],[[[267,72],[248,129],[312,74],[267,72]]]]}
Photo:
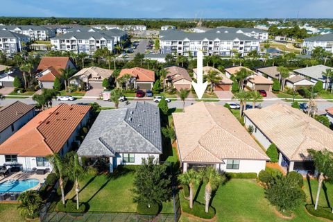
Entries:
{"type": "Polygon", "coordinates": [[[192,41],[202,41],[205,38],[208,40],[234,40],[238,38],[239,40],[246,40],[246,41],[258,41],[253,37],[248,37],[244,34],[239,33],[184,33],[179,31],[173,31],[165,33],[161,40],[164,41],[172,41],[172,40],[185,40],[188,38],[192,41]]]}

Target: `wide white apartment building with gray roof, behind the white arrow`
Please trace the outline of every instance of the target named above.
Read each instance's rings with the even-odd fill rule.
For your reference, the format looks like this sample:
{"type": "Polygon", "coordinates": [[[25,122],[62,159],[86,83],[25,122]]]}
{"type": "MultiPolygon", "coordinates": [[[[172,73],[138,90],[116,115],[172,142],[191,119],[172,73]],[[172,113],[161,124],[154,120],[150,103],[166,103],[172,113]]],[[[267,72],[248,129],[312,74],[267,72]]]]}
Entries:
{"type": "Polygon", "coordinates": [[[204,56],[232,56],[241,53],[246,56],[250,51],[259,51],[259,40],[239,33],[185,33],[164,31],[160,35],[162,53],[192,56],[201,50],[204,56]]]}

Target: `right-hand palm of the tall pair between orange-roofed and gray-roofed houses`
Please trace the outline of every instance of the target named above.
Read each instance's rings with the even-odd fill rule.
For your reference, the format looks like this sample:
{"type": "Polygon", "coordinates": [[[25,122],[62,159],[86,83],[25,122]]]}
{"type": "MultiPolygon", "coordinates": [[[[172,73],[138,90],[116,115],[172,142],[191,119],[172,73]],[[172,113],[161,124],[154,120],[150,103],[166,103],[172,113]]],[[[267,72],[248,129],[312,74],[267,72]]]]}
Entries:
{"type": "Polygon", "coordinates": [[[85,171],[83,170],[83,167],[78,161],[78,154],[77,153],[71,154],[71,153],[74,152],[67,153],[67,155],[71,156],[69,157],[66,174],[68,175],[69,180],[75,183],[76,209],[78,210],[78,203],[79,203],[78,194],[80,193],[80,185],[78,184],[78,178],[82,176],[85,173],[85,171]]]}

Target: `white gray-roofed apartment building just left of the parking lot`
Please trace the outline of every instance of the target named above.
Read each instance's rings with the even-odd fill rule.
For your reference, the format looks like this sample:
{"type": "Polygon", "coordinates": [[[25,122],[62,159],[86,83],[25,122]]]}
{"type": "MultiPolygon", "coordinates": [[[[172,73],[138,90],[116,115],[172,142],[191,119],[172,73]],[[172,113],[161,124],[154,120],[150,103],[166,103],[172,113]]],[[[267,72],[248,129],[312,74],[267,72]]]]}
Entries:
{"type": "Polygon", "coordinates": [[[114,49],[114,37],[95,31],[69,32],[51,39],[52,50],[73,51],[74,53],[87,53],[93,55],[97,49],[114,49]]]}

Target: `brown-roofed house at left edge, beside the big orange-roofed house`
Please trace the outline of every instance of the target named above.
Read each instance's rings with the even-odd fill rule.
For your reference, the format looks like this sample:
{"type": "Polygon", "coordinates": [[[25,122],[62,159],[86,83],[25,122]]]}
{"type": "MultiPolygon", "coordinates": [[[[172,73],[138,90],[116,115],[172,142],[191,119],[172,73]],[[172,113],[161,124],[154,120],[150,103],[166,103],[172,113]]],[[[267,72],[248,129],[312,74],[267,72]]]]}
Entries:
{"type": "Polygon", "coordinates": [[[0,109],[0,144],[35,116],[35,105],[16,101],[0,109]]]}

